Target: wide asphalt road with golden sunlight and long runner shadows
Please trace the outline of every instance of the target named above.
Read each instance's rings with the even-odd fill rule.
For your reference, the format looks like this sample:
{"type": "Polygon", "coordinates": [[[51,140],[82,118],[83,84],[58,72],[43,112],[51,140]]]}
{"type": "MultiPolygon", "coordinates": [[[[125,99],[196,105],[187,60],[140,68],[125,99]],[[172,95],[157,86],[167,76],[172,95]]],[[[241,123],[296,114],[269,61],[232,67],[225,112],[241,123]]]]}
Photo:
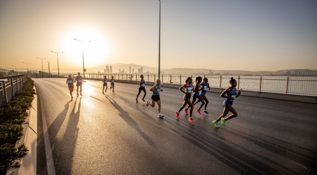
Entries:
{"type": "Polygon", "coordinates": [[[224,100],[218,93],[207,93],[209,114],[194,111],[191,123],[184,111],[176,117],[183,103],[176,88],[162,88],[160,119],[157,106],[141,101],[143,92],[135,102],[138,85],[116,83],[115,92],[102,94],[101,81],[86,80],[83,96],[74,92],[71,101],[66,79],[34,81],[39,175],[47,174],[41,110],[57,175],[317,174],[317,105],[242,91],[233,105],[238,117],[216,128],[224,100]]]}

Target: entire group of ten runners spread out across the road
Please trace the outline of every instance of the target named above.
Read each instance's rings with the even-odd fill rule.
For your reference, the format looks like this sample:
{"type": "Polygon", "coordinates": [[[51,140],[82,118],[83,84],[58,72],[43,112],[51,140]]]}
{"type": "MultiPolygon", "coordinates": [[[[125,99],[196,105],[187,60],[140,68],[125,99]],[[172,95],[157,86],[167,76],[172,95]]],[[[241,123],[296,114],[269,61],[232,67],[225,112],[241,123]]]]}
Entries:
{"type": "MultiPolygon", "coordinates": [[[[145,80],[144,80],[144,76],[143,75],[140,75],[140,87],[139,87],[139,93],[137,95],[137,98],[136,98],[136,102],[138,103],[138,97],[141,93],[141,91],[144,92],[144,96],[142,98],[142,101],[145,102],[145,96],[146,96],[146,89],[145,89],[145,80]]],[[[78,75],[76,76],[75,80],[72,78],[71,75],[68,76],[67,80],[66,80],[66,84],[68,84],[68,88],[69,88],[69,92],[70,92],[70,95],[71,97],[73,98],[73,95],[72,95],[72,92],[74,90],[74,83],[77,82],[76,86],[77,86],[77,96],[78,96],[78,90],[79,90],[79,87],[80,87],[80,95],[81,95],[81,90],[82,90],[82,77],[80,76],[80,73],[78,72],[78,75]]],[[[107,92],[107,89],[108,89],[108,86],[107,86],[107,76],[104,76],[103,80],[103,88],[102,88],[102,93],[104,92],[107,92]],[[104,90],[104,87],[106,87],[106,89],[104,90]],[[104,92],[103,92],[104,90],[104,92]]],[[[112,91],[114,92],[114,89],[115,89],[115,79],[114,79],[114,76],[112,76],[112,78],[110,79],[110,82],[111,82],[111,87],[110,89],[112,88],[112,91]]],[[[161,101],[160,101],[160,97],[159,97],[159,94],[160,92],[162,92],[163,90],[161,89],[160,87],[160,83],[161,81],[159,79],[157,79],[156,81],[156,84],[150,88],[150,91],[153,92],[152,96],[151,96],[151,99],[152,99],[152,103],[150,103],[150,101],[147,101],[146,102],[146,106],[152,106],[152,107],[155,107],[155,104],[157,103],[158,104],[158,117],[159,118],[162,118],[164,117],[164,115],[162,115],[160,113],[160,109],[161,109],[161,101]]],[[[183,108],[188,105],[186,108],[185,108],[185,113],[188,114],[188,109],[190,108],[190,112],[189,112],[189,121],[190,122],[195,122],[192,118],[192,114],[193,114],[193,110],[194,110],[194,105],[198,104],[199,102],[200,105],[198,107],[198,109],[196,110],[198,112],[198,114],[201,115],[201,112],[200,112],[200,109],[205,105],[205,108],[203,110],[204,113],[206,114],[209,114],[207,112],[207,105],[209,103],[207,97],[206,97],[206,92],[207,90],[209,89],[210,90],[210,87],[209,87],[209,84],[208,84],[208,78],[203,78],[198,76],[196,77],[195,79],[195,85],[193,86],[193,79],[191,77],[188,77],[185,81],[186,84],[182,85],[179,90],[181,92],[184,93],[184,96],[183,96],[183,99],[184,99],[184,102],[183,102],[183,105],[180,106],[180,108],[178,109],[178,111],[176,111],[176,116],[177,118],[179,118],[179,114],[180,112],[183,110],[183,108]],[[183,90],[185,88],[185,91],[183,90]],[[192,95],[193,93],[193,95],[192,95]],[[193,96],[193,97],[192,97],[193,96]],[[192,101],[190,100],[192,97],[192,101]]],[[[238,116],[238,113],[237,111],[232,107],[233,105],[233,102],[235,100],[235,98],[237,98],[240,94],[241,94],[241,91],[238,90],[238,93],[237,93],[237,81],[232,77],[229,81],[230,83],[230,87],[225,89],[222,93],[221,93],[221,97],[225,98],[225,100],[223,101],[222,105],[223,105],[223,113],[218,117],[217,120],[213,121],[213,123],[215,124],[216,127],[219,127],[218,125],[218,122],[221,120],[221,124],[223,126],[225,126],[226,124],[226,121],[229,120],[229,119],[232,119],[232,118],[235,118],[238,116]],[[228,117],[225,118],[225,116],[231,112],[232,114],[229,115],[228,117]]]]}

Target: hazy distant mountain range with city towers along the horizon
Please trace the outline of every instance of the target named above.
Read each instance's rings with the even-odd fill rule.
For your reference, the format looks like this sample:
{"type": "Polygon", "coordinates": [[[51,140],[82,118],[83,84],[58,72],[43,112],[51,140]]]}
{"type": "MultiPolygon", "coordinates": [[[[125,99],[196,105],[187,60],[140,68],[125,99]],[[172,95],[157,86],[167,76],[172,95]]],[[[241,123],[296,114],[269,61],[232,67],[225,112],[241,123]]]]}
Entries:
{"type": "MultiPolygon", "coordinates": [[[[119,73],[120,71],[126,71],[129,73],[131,67],[131,73],[137,73],[138,69],[143,69],[143,74],[158,74],[158,68],[141,66],[136,64],[105,64],[99,67],[87,68],[86,73],[104,73],[106,66],[112,66],[112,73],[119,73]],[[134,72],[132,71],[134,69],[134,72]]],[[[11,69],[10,69],[11,70],[11,69]]],[[[31,69],[31,71],[40,71],[41,69],[31,69]]],[[[3,71],[3,69],[0,69],[3,71]]],[[[7,71],[7,70],[6,70],[7,71]]],[[[25,69],[18,69],[18,71],[25,71],[25,69]]],[[[51,69],[51,73],[57,74],[57,68],[51,69]]],[[[214,75],[316,75],[317,70],[298,69],[298,70],[277,70],[277,71],[248,71],[248,70],[209,70],[209,69],[190,69],[190,68],[173,68],[173,69],[161,69],[161,74],[214,74],[214,75]]],[[[48,69],[44,69],[44,72],[48,72],[48,69]]],[[[61,74],[64,73],[76,73],[82,72],[82,69],[59,69],[61,74]]]]}

